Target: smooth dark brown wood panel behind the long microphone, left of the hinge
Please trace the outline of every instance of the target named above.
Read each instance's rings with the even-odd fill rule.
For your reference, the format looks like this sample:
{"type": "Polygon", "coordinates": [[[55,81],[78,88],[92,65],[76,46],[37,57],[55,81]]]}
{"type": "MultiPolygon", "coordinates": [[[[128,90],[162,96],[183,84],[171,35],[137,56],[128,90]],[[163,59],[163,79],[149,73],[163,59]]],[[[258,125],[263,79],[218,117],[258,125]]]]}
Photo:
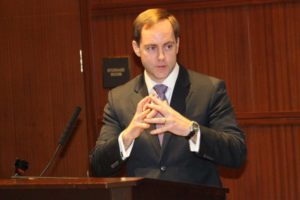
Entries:
{"type": "Polygon", "coordinates": [[[79,0],[0,3],[0,178],[18,157],[37,176],[50,160],[75,106],[79,123],[46,176],[88,169],[79,0]]]}

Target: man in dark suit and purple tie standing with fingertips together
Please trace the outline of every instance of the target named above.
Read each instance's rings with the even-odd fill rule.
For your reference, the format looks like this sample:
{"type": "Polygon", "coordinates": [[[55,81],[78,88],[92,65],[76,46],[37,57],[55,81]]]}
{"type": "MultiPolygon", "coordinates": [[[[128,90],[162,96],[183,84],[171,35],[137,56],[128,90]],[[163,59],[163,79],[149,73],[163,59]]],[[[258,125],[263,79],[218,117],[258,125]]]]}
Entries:
{"type": "Polygon", "coordinates": [[[108,94],[91,156],[95,176],[126,165],[128,176],[221,186],[217,167],[244,162],[245,136],[224,81],[178,64],[179,42],[168,11],[135,19],[132,46],[145,70],[108,94]]]}

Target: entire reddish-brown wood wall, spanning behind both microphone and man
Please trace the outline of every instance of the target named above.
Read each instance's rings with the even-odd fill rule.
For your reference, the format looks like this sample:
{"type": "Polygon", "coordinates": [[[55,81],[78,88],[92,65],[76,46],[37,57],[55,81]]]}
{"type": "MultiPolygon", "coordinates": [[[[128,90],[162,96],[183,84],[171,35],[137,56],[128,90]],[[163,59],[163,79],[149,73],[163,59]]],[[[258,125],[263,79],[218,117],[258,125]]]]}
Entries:
{"type": "Polygon", "coordinates": [[[220,169],[228,199],[300,199],[299,1],[92,0],[93,60],[85,76],[78,50],[88,35],[80,28],[89,26],[80,24],[79,1],[21,2],[0,7],[1,178],[13,174],[16,157],[30,162],[27,175],[38,175],[76,105],[80,123],[48,175],[85,175],[106,103],[102,58],[129,55],[132,77],[140,73],[132,21],[164,7],[181,24],[179,62],[226,81],[247,133],[246,164],[220,169]]]}

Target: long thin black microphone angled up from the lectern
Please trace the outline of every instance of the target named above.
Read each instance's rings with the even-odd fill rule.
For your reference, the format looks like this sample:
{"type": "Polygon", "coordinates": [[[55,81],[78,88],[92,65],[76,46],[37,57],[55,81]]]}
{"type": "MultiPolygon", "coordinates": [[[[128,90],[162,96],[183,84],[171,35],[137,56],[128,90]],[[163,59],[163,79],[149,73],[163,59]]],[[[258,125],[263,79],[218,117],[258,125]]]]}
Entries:
{"type": "Polygon", "coordinates": [[[79,113],[81,111],[81,108],[79,106],[77,106],[71,116],[71,119],[69,120],[63,134],[61,135],[59,141],[58,141],[58,145],[56,147],[56,150],[51,158],[51,160],[48,162],[48,164],[46,165],[46,167],[44,168],[44,170],[41,172],[40,176],[43,176],[45,174],[45,172],[48,170],[48,168],[54,163],[54,160],[58,154],[58,152],[64,147],[64,145],[67,143],[67,141],[69,140],[69,138],[72,135],[72,131],[73,131],[73,127],[77,121],[77,118],[79,116],[79,113]]]}

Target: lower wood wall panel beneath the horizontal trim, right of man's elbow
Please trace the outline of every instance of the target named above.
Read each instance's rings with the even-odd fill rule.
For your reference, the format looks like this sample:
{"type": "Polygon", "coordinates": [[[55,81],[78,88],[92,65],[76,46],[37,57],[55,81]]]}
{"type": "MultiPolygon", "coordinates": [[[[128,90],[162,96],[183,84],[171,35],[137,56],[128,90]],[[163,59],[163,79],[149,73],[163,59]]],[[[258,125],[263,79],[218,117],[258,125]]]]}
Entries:
{"type": "Polygon", "coordinates": [[[251,125],[247,133],[248,158],[238,170],[222,168],[228,199],[300,198],[300,125],[251,125]]]}

